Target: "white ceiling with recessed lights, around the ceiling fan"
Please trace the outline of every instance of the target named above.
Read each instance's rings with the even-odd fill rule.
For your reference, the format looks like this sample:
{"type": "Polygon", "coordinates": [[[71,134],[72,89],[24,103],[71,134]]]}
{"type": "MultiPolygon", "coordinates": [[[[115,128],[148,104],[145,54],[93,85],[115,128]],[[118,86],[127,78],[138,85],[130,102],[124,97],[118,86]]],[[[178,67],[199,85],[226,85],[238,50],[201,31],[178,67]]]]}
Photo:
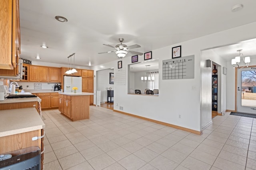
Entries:
{"type": "MultiPolygon", "coordinates": [[[[255,0],[20,0],[20,56],[35,61],[39,55],[42,62],[68,64],[67,57],[76,53],[75,65],[88,67],[90,61],[95,66],[118,60],[115,53],[98,54],[112,51],[102,44],[115,46],[118,38],[128,46],[140,45],[132,50],[145,53],[255,22],[255,8],[255,0]],[[236,4],[244,8],[231,12],[236,4]]],[[[214,50],[228,59],[238,49],[246,55],[247,48],[238,44],[214,50]]]]}

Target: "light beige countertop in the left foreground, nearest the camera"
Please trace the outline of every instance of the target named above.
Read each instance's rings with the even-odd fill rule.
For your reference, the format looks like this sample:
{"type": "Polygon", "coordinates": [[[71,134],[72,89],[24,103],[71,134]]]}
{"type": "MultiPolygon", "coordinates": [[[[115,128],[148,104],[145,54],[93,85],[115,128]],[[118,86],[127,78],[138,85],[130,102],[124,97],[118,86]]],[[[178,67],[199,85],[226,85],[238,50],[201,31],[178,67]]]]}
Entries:
{"type": "Polygon", "coordinates": [[[36,108],[0,110],[0,137],[43,129],[36,108]]]}

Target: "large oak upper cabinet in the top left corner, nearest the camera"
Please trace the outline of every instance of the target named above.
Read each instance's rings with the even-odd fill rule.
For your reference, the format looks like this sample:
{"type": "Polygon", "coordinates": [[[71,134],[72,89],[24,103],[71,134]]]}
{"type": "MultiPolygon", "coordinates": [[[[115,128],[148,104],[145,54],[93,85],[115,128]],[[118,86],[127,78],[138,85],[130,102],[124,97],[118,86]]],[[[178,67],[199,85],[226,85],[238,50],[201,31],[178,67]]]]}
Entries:
{"type": "Polygon", "coordinates": [[[0,6],[0,68],[13,70],[20,55],[19,1],[0,0],[0,6]]]}

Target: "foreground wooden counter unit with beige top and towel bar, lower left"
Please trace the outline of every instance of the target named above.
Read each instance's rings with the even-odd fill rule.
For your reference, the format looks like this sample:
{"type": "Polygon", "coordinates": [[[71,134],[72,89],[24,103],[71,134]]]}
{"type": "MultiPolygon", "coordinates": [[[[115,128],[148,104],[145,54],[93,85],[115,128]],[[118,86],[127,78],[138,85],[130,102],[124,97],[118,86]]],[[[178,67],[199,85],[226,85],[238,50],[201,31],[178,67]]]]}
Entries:
{"type": "Polygon", "coordinates": [[[36,146],[41,149],[43,167],[44,127],[44,122],[33,107],[0,110],[0,155],[36,146]],[[34,137],[38,138],[32,140],[34,137]]]}

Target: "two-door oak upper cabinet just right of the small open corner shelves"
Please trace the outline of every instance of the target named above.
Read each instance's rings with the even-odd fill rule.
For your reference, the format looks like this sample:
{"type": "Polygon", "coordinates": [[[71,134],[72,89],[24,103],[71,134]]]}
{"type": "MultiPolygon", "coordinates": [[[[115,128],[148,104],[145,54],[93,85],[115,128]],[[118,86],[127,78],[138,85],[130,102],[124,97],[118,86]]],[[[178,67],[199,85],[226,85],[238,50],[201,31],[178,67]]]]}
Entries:
{"type": "Polygon", "coordinates": [[[31,65],[29,72],[30,82],[48,82],[48,67],[31,65]]]}

